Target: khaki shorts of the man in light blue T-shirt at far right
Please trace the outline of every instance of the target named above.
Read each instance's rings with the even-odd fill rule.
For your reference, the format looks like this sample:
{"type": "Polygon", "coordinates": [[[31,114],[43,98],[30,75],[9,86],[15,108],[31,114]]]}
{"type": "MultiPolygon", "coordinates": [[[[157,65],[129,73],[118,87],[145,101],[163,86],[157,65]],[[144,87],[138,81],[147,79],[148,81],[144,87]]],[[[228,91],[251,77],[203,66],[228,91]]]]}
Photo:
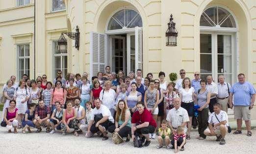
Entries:
{"type": "Polygon", "coordinates": [[[249,106],[234,106],[234,118],[251,120],[251,110],[249,110],[249,106]]]}

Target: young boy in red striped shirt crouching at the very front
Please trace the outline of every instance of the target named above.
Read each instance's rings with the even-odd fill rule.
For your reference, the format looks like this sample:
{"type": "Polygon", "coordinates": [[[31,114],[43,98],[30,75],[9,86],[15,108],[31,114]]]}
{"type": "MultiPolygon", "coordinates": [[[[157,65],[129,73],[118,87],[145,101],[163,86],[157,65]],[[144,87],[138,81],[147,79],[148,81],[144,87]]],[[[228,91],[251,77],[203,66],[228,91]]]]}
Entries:
{"type": "Polygon", "coordinates": [[[178,153],[178,150],[184,151],[185,143],[186,143],[186,133],[185,133],[184,127],[179,126],[174,135],[174,139],[171,141],[171,144],[173,145],[173,149],[175,149],[174,152],[178,153]]]}

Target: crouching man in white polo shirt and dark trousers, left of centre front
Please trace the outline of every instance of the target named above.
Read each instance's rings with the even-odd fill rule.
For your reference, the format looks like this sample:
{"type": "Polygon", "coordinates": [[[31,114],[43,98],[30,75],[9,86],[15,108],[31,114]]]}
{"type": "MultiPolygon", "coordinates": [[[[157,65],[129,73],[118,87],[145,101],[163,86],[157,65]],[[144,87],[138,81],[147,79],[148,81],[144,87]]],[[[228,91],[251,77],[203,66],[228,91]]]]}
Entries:
{"type": "Polygon", "coordinates": [[[109,126],[114,125],[114,118],[110,110],[102,105],[99,98],[94,99],[95,108],[92,110],[91,119],[88,125],[88,131],[85,137],[92,137],[96,132],[102,132],[102,140],[107,140],[106,130],[109,126]]]}

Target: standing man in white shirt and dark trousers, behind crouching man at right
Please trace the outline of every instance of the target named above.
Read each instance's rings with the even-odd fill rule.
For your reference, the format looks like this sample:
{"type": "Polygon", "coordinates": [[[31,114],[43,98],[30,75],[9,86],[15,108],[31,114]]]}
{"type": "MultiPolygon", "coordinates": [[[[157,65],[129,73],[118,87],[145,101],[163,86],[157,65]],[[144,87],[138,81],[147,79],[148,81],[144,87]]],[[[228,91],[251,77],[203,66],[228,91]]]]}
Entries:
{"type": "Polygon", "coordinates": [[[215,103],[217,103],[216,96],[218,95],[218,86],[213,82],[211,75],[208,75],[206,77],[206,81],[207,81],[206,89],[208,89],[211,93],[211,99],[210,99],[210,103],[209,103],[209,111],[212,113],[212,112],[214,112],[213,105],[215,103]]]}

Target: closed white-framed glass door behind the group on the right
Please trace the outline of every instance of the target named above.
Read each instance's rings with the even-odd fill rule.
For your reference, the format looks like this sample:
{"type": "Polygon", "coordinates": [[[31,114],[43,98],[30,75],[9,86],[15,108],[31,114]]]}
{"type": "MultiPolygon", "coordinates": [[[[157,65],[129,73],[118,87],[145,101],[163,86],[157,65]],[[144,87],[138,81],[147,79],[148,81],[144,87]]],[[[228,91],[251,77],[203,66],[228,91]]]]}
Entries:
{"type": "Polygon", "coordinates": [[[224,75],[225,81],[234,83],[236,70],[234,60],[234,35],[232,33],[205,32],[200,34],[200,71],[201,78],[212,75],[215,83],[218,76],[224,75]]]}

